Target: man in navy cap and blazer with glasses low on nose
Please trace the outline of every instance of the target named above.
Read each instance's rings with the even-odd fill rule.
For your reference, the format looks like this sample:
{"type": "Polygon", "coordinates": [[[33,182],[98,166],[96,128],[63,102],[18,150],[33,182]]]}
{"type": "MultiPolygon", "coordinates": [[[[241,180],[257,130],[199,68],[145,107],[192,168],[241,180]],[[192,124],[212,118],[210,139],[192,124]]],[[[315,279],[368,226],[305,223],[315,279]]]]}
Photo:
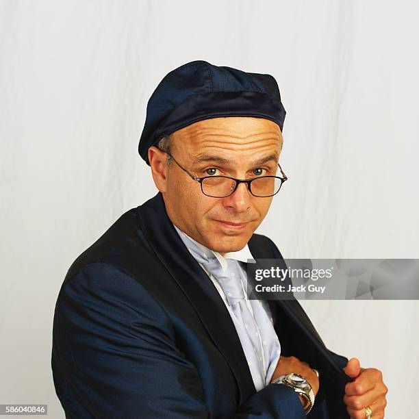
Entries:
{"type": "Polygon", "coordinates": [[[157,86],[139,152],[159,192],[75,260],[55,307],[67,418],[383,417],[379,371],[328,351],[297,301],[244,292],[249,259],[282,259],[254,231],[286,180],[284,118],[270,75],[195,61],[157,86]]]}

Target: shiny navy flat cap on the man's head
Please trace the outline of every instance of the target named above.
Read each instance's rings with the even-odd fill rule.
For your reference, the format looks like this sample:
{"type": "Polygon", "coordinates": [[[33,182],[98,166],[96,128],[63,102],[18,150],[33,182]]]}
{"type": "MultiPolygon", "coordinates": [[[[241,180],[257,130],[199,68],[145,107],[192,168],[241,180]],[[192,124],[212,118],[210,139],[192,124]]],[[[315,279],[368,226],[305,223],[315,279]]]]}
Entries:
{"type": "Polygon", "coordinates": [[[170,71],[154,90],[138,153],[150,165],[149,147],[163,136],[199,120],[220,116],[255,116],[283,127],[285,109],[277,81],[268,74],[192,61],[170,71]]]}

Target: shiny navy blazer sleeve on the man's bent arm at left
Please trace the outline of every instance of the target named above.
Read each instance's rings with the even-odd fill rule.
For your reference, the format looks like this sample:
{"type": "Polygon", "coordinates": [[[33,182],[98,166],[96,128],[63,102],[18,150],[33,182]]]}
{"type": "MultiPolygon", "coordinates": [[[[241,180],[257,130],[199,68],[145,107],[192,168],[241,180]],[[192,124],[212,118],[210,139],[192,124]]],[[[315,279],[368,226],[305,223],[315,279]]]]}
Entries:
{"type": "MultiPolygon", "coordinates": [[[[66,418],[209,418],[199,373],[173,336],[160,304],[118,268],[90,264],[66,279],[51,358],[66,418]]],[[[228,418],[305,414],[292,389],[270,384],[228,418]]]]}

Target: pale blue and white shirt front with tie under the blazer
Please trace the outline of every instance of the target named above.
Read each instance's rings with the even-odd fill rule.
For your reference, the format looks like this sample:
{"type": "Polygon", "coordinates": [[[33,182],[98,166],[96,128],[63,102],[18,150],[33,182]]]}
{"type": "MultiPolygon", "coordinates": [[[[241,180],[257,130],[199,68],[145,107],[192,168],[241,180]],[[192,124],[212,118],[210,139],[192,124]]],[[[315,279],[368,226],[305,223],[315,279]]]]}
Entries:
{"type": "Polygon", "coordinates": [[[281,345],[268,303],[247,298],[247,273],[242,262],[253,259],[249,246],[246,244],[240,251],[223,256],[173,226],[223,299],[236,327],[256,391],[262,390],[272,379],[281,345]]]}

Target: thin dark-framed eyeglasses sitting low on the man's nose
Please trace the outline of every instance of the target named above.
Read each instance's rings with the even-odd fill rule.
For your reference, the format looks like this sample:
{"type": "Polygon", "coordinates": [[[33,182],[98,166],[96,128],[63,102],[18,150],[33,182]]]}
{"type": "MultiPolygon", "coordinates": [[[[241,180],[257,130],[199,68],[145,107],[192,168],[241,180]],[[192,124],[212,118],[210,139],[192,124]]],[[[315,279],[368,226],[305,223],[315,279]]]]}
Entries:
{"type": "Polygon", "coordinates": [[[260,176],[254,177],[253,179],[235,179],[234,177],[215,175],[215,176],[205,176],[205,177],[194,177],[191,175],[186,168],[183,168],[176,160],[173,155],[166,153],[173,159],[173,161],[184,170],[194,181],[201,183],[201,190],[204,195],[212,196],[213,198],[225,198],[230,196],[237,189],[239,183],[246,183],[249,192],[253,196],[258,198],[267,198],[268,196],[274,196],[281,189],[282,183],[285,182],[288,177],[281,166],[278,163],[279,170],[281,170],[281,175],[279,176],[260,176]]]}

